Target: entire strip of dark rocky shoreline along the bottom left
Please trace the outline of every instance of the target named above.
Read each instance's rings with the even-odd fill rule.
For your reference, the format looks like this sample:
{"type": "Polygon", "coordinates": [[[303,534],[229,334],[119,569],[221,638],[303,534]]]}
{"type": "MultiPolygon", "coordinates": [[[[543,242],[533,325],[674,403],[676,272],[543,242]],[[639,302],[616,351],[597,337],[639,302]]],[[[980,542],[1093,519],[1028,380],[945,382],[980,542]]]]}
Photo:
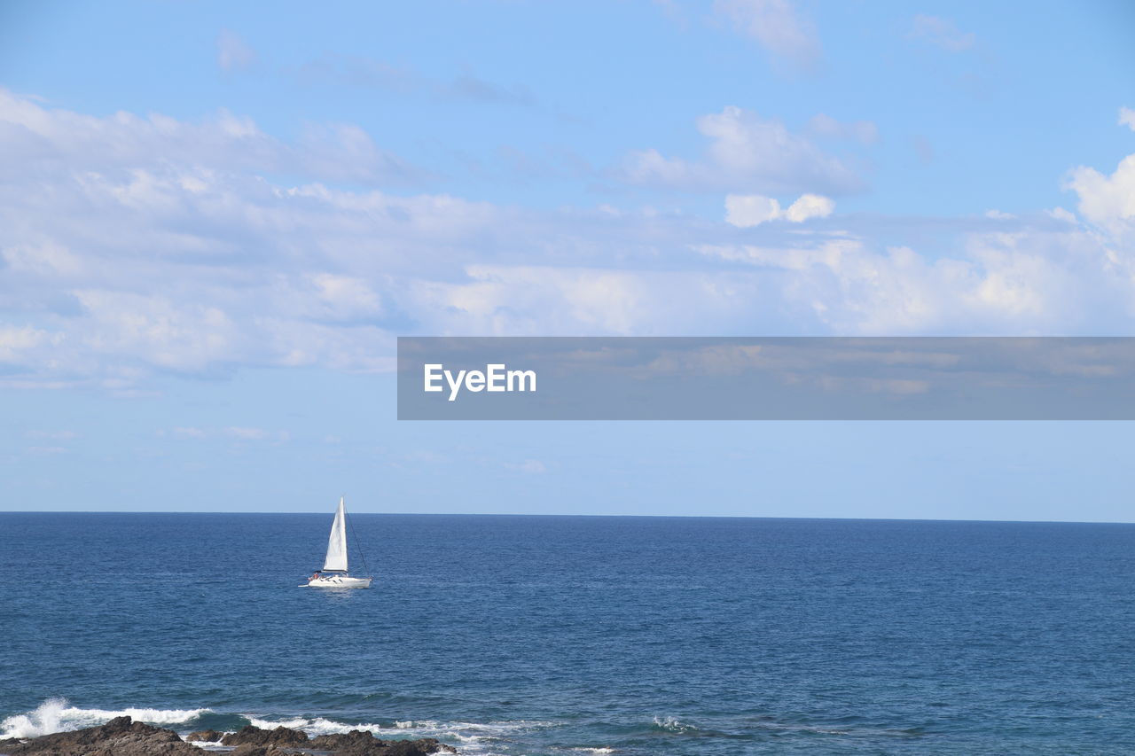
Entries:
{"type": "Polygon", "coordinates": [[[173,730],[134,722],[128,716],[72,732],[0,740],[0,755],[3,756],[204,756],[209,753],[232,756],[430,756],[457,750],[436,738],[382,740],[364,730],[309,738],[300,730],[285,726],[262,730],[251,724],[237,732],[202,730],[183,740],[173,730]],[[226,748],[201,748],[190,740],[220,742],[226,748]]]}

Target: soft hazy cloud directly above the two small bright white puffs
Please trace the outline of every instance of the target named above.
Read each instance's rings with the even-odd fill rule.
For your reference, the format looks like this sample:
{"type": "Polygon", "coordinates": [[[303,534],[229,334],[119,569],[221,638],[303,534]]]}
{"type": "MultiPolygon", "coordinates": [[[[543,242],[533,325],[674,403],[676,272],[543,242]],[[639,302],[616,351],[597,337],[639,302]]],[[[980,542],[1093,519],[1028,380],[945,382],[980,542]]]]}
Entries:
{"type": "Polygon", "coordinates": [[[681,190],[767,194],[846,194],[861,188],[843,162],[779,120],[730,106],[699,117],[697,128],[709,138],[700,160],[667,158],[657,150],[633,152],[624,161],[621,178],[681,190]]]}

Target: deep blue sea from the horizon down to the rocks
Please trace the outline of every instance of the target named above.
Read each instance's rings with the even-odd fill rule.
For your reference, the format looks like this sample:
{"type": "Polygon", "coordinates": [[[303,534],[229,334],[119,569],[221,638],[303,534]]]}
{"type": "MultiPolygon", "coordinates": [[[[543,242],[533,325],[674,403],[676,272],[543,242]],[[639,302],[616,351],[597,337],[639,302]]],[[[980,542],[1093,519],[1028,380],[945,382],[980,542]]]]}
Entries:
{"type": "Polygon", "coordinates": [[[1135,526],[356,514],[375,587],[300,589],[330,519],[0,513],[0,737],[1135,753],[1135,526]]]}

